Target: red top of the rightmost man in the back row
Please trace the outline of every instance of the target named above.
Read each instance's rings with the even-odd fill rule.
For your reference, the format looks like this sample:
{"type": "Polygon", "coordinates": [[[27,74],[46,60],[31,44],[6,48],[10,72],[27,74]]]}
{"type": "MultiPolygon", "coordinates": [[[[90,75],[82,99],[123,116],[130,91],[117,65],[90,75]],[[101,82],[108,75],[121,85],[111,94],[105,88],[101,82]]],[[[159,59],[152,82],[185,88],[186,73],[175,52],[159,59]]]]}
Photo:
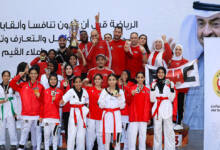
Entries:
{"type": "Polygon", "coordinates": [[[134,79],[137,72],[144,71],[143,67],[143,55],[140,50],[140,46],[130,47],[130,52],[126,53],[126,69],[131,72],[131,78],[134,79]]]}

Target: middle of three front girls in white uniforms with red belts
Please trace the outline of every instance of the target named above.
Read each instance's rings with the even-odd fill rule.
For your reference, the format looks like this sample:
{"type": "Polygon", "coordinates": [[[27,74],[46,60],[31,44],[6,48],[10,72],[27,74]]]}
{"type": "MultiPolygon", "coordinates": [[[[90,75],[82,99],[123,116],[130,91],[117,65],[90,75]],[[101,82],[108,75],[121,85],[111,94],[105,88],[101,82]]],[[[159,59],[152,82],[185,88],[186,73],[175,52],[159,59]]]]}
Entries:
{"type": "Polygon", "coordinates": [[[117,77],[108,76],[108,87],[103,89],[98,100],[99,107],[103,109],[100,132],[102,132],[104,149],[110,149],[111,135],[115,150],[120,150],[120,136],[122,132],[121,109],[125,107],[123,90],[119,89],[117,77]]]}

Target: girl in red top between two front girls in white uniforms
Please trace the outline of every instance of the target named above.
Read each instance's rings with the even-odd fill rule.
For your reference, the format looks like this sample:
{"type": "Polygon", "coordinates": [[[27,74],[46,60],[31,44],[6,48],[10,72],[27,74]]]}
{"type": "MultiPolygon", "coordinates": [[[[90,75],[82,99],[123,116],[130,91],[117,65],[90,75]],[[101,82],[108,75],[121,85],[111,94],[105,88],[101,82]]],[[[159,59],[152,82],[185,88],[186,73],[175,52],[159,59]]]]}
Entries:
{"type": "Polygon", "coordinates": [[[97,137],[98,150],[103,150],[102,133],[100,132],[100,123],[102,120],[102,109],[99,108],[98,99],[102,91],[103,77],[96,74],[93,77],[94,86],[86,87],[89,94],[89,114],[87,115],[86,149],[92,150],[97,137]]]}

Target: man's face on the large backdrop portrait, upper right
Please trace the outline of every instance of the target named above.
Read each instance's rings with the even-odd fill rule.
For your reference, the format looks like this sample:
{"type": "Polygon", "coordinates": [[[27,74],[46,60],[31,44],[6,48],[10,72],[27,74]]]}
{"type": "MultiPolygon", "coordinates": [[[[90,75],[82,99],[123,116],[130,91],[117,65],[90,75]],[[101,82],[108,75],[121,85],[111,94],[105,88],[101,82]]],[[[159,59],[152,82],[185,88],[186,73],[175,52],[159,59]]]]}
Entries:
{"type": "Polygon", "coordinates": [[[197,16],[197,26],[201,45],[204,45],[204,37],[220,37],[220,13],[210,17],[197,16]]]}

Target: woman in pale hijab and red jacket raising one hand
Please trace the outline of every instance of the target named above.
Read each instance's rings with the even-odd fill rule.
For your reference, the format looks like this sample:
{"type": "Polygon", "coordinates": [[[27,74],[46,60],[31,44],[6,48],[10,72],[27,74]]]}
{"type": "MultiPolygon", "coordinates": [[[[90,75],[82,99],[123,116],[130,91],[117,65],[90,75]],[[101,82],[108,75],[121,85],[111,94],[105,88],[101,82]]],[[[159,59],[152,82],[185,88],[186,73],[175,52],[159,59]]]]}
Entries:
{"type": "Polygon", "coordinates": [[[168,62],[172,58],[172,50],[163,35],[162,39],[158,38],[153,43],[151,54],[148,57],[148,64],[151,66],[164,66],[167,67],[168,62]]]}

